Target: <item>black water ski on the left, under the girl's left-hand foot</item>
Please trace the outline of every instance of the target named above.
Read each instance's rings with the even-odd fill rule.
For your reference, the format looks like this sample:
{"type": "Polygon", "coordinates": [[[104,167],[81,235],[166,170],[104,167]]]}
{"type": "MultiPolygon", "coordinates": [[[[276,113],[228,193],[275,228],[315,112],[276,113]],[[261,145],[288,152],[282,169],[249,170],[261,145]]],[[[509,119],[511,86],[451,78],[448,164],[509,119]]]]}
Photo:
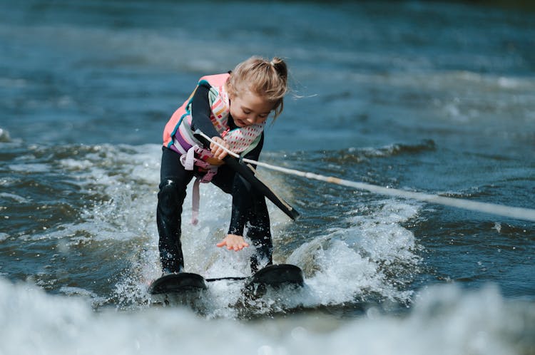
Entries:
{"type": "Polygon", "coordinates": [[[181,294],[185,292],[198,292],[207,289],[204,277],[191,272],[178,274],[165,274],[154,280],[148,287],[150,294],[181,294]]]}

